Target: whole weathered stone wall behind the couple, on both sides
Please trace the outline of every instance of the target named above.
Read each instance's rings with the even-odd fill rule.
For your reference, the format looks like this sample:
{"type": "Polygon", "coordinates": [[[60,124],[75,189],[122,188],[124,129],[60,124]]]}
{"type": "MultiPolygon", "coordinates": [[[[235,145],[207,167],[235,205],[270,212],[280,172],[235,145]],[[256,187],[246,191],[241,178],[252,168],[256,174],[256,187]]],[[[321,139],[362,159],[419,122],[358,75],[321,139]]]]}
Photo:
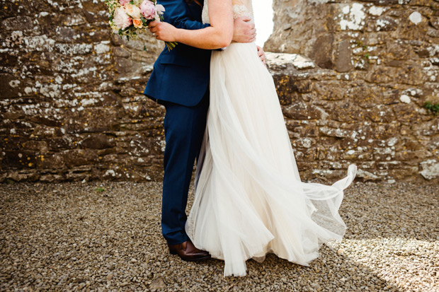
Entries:
{"type": "MultiPolygon", "coordinates": [[[[161,180],[164,108],[142,92],[162,45],[112,36],[102,0],[0,3],[0,181],[161,180]]],[[[356,163],[437,182],[438,2],[274,6],[268,63],[302,178],[356,163]]]]}

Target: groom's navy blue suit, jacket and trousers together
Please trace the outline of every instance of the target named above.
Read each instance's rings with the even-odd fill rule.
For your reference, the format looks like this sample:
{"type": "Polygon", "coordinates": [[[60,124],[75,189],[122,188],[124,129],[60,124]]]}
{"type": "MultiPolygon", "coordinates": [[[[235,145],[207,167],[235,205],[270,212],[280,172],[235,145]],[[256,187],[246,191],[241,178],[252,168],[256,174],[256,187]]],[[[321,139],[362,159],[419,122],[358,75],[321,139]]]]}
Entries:
{"type": "MultiPolygon", "coordinates": [[[[159,1],[164,21],[176,28],[197,30],[202,8],[185,0],[159,1]]],[[[185,232],[188,189],[205,131],[209,107],[210,50],[178,44],[165,47],[154,64],[144,95],[166,107],[164,119],[163,202],[161,230],[170,245],[188,240],[185,232]]]]}

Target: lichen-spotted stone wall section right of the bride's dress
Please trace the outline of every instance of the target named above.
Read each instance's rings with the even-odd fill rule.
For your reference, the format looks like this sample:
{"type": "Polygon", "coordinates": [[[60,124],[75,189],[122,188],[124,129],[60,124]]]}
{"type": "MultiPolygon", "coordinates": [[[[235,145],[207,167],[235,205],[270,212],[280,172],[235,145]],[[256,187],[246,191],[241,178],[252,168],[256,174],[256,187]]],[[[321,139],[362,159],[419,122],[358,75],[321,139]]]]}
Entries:
{"type": "MultiPolygon", "coordinates": [[[[312,64],[274,72],[300,167],[366,180],[439,177],[439,2],[274,0],[265,49],[312,64]]],[[[287,62],[290,63],[290,62],[287,62]]]]}

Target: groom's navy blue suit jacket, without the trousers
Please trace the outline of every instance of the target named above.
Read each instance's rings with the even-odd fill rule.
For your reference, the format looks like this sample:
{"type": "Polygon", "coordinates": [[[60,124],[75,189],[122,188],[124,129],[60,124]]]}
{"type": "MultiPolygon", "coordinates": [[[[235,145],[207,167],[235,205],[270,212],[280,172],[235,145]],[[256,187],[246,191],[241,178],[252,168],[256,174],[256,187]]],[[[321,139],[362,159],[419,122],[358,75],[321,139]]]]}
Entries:
{"type": "MultiPolygon", "coordinates": [[[[209,24],[201,21],[202,8],[185,0],[161,0],[166,11],[164,21],[176,28],[198,30],[209,24]]],[[[144,95],[161,103],[198,105],[209,86],[210,49],[198,49],[178,43],[169,52],[165,46],[154,63],[144,95]]]]}

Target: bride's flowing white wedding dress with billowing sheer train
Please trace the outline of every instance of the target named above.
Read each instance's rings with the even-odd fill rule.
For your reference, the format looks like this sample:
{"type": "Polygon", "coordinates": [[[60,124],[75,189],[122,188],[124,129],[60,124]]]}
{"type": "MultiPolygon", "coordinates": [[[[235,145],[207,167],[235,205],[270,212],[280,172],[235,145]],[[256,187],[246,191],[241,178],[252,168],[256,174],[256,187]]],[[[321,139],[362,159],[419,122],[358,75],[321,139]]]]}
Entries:
{"type": "MultiPolygon", "coordinates": [[[[253,17],[251,3],[233,11],[234,18],[253,17]]],[[[209,23],[207,0],[203,22],[209,23]]],[[[330,186],[301,182],[275,84],[255,43],[212,52],[210,110],[186,232],[196,247],[224,259],[224,276],[244,276],[246,260],[268,252],[309,266],[322,243],[346,231],[338,209],[355,172],[350,165],[330,186]]]]}

